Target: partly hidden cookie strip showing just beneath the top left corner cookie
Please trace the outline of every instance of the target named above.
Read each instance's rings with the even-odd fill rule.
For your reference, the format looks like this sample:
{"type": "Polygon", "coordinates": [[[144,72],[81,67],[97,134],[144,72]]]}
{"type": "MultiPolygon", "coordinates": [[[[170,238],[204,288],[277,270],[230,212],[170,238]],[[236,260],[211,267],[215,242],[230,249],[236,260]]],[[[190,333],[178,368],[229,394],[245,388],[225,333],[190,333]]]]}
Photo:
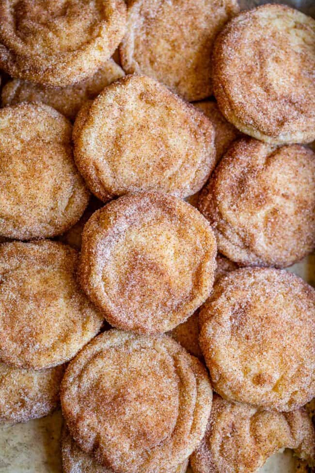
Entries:
{"type": "Polygon", "coordinates": [[[123,69],[109,59],[92,77],[67,87],[45,85],[12,79],[2,89],[2,106],[20,102],[43,102],[74,120],[86,100],[95,98],[107,85],[125,75],[123,69]]]}

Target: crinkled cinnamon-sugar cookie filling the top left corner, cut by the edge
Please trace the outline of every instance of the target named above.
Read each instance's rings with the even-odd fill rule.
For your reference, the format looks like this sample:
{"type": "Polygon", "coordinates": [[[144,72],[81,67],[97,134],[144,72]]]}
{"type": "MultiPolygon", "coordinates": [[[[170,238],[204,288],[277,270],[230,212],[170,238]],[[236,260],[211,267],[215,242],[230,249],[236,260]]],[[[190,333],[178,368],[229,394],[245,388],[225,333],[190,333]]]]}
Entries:
{"type": "Polygon", "coordinates": [[[125,29],[123,0],[4,0],[0,67],[19,79],[65,87],[91,77],[125,29]]]}

